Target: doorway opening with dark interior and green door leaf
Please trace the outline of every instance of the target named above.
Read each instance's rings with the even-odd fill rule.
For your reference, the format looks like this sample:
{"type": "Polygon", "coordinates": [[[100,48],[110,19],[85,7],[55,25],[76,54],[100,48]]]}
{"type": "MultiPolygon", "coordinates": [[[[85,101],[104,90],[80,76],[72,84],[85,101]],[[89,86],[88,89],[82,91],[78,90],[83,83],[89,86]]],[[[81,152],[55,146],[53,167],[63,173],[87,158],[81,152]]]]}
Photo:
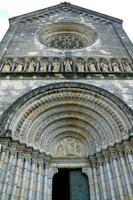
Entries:
{"type": "Polygon", "coordinates": [[[53,177],[52,200],[89,200],[88,178],[81,169],[59,169],[53,177]]]}

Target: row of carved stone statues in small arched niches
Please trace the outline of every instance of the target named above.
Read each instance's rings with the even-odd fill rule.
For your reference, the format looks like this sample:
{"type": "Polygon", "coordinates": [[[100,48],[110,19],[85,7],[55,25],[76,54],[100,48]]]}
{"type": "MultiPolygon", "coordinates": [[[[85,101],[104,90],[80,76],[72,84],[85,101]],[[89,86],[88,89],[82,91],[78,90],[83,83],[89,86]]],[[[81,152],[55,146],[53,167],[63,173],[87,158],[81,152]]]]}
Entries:
{"type": "Polygon", "coordinates": [[[6,58],[1,63],[1,72],[45,72],[45,73],[116,73],[133,72],[128,58],[6,58]]]}

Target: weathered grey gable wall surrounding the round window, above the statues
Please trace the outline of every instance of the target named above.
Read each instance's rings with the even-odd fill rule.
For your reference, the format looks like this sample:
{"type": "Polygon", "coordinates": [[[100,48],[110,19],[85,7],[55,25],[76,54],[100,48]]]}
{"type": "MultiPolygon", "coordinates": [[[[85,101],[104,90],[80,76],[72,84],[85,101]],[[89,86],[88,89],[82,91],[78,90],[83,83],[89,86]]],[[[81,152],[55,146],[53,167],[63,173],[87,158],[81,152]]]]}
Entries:
{"type": "Polygon", "coordinates": [[[24,56],[81,56],[81,57],[132,57],[133,47],[125,34],[121,23],[113,22],[102,15],[81,14],[71,11],[71,8],[63,12],[54,11],[52,13],[38,17],[35,16],[25,19],[18,17],[11,21],[11,27],[7,36],[3,39],[0,46],[0,54],[6,57],[24,56]],[[59,22],[76,22],[92,28],[98,33],[98,40],[91,46],[73,50],[47,49],[38,40],[38,31],[45,25],[59,22]]]}

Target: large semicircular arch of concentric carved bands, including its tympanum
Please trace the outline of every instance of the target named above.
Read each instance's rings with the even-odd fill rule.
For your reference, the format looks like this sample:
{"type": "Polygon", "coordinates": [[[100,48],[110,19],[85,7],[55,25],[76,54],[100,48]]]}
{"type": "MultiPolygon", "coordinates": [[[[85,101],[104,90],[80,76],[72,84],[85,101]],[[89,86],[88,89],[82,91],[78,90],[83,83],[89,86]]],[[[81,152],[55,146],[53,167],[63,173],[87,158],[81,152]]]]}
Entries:
{"type": "Polygon", "coordinates": [[[0,124],[3,134],[10,130],[13,139],[46,154],[62,156],[62,148],[66,157],[72,152],[83,157],[128,139],[132,119],[132,111],[112,94],[66,82],[27,93],[5,112],[0,124]],[[73,149],[67,150],[66,144],[72,143],[73,149]]]}

